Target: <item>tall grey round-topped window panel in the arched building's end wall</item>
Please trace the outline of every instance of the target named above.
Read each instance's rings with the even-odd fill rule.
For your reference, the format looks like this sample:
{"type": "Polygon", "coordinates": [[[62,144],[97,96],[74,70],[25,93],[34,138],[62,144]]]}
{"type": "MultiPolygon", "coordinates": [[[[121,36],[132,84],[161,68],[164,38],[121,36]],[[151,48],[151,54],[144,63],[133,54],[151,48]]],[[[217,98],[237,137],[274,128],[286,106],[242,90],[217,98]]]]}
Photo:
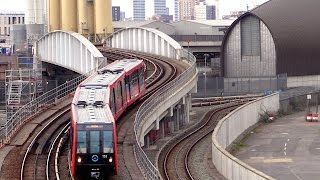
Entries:
{"type": "Polygon", "coordinates": [[[260,56],[260,20],[247,16],[241,20],[241,54],[242,56],[260,56]]]}

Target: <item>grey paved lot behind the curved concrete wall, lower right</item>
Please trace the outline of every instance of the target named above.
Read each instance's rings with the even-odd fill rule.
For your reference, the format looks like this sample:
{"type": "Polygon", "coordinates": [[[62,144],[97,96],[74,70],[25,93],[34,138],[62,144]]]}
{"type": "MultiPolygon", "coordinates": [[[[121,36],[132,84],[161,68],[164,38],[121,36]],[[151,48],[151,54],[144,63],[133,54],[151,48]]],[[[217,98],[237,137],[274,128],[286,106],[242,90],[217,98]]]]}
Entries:
{"type": "Polygon", "coordinates": [[[235,156],[276,179],[320,177],[320,122],[306,122],[305,112],[262,125],[243,143],[235,156]]]}

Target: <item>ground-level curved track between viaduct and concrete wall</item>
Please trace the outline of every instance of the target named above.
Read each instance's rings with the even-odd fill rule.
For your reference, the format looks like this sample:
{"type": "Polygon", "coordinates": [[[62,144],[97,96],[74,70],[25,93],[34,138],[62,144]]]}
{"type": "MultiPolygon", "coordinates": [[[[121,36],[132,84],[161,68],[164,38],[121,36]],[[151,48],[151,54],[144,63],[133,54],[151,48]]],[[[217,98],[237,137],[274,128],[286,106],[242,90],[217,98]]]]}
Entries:
{"type": "MultiPolygon", "coordinates": [[[[211,135],[219,120],[242,103],[232,103],[212,110],[196,126],[170,141],[159,154],[158,169],[163,179],[196,179],[190,168],[190,154],[204,138],[211,135]]],[[[199,172],[198,172],[199,173],[199,172]]],[[[217,174],[218,176],[218,174],[217,174]]]]}

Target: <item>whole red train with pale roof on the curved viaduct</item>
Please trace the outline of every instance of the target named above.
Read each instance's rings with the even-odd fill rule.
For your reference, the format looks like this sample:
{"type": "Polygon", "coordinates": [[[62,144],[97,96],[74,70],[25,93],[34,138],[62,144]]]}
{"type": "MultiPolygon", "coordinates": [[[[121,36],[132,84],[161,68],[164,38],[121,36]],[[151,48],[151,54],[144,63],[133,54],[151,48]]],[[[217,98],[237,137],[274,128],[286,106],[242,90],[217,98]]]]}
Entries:
{"type": "Polygon", "coordinates": [[[124,59],[98,70],[77,87],[70,133],[70,169],[75,179],[118,173],[115,123],[144,94],[144,74],[142,60],[124,59]]]}

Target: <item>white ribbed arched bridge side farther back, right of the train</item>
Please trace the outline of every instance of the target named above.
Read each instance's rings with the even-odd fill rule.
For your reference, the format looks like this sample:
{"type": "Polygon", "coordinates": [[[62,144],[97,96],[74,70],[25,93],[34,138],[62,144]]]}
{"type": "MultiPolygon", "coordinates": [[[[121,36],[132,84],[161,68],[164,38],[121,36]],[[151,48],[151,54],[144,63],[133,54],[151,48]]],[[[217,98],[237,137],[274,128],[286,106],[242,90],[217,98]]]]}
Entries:
{"type": "Polygon", "coordinates": [[[181,45],[174,39],[153,28],[132,27],[121,29],[107,38],[113,48],[142,51],[180,59],[181,45]]]}

